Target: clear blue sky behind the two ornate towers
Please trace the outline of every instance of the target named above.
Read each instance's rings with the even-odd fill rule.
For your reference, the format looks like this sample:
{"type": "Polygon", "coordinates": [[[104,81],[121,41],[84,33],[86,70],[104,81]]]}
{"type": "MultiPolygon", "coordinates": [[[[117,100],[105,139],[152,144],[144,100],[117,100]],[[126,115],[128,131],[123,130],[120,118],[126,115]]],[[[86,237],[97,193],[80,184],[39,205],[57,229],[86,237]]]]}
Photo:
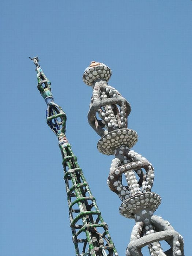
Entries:
{"type": "Polygon", "coordinates": [[[95,60],[131,104],[133,150],[155,168],[155,214],[168,220],[191,255],[191,0],[1,0],[0,256],[75,255],[57,138],[37,90],[39,56],[55,102],[67,114],[67,137],[97,199],[119,255],[134,221],[106,185],[113,157],[97,150],[87,122],[92,89],[82,81],[95,60]]]}

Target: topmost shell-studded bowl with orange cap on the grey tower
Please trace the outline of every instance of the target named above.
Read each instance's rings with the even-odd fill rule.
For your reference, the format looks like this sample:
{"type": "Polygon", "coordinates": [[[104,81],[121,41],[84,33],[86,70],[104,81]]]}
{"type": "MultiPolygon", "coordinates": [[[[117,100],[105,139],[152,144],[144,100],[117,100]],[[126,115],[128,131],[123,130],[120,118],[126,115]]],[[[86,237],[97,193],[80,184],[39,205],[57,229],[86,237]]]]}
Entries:
{"type": "Polygon", "coordinates": [[[91,65],[85,69],[83,73],[83,82],[89,86],[99,79],[109,81],[112,75],[112,70],[103,63],[98,63],[95,61],[91,62],[91,65]]]}

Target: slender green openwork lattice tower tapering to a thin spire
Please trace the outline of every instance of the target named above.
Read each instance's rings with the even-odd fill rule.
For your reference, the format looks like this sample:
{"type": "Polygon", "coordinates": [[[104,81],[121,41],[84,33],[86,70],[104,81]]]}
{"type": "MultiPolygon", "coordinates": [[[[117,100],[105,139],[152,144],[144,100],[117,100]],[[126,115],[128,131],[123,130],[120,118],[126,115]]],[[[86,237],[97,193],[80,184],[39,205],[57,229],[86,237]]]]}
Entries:
{"type": "Polygon", "coordinates": [[[42,71],[38,57],[30,59],[33,60],[36,66],[37,88],[47,104],[47,124],[59,140],[63,158],[72,240],[75,245],[76,255],[118,256],[109,235],[108,225],[103,221],[89,184],[78,165],[77,158],[71,149],[71,144],[69,144],[65,136],[66,115],[63,109],[54,103],[51,83],[42,71]]]}

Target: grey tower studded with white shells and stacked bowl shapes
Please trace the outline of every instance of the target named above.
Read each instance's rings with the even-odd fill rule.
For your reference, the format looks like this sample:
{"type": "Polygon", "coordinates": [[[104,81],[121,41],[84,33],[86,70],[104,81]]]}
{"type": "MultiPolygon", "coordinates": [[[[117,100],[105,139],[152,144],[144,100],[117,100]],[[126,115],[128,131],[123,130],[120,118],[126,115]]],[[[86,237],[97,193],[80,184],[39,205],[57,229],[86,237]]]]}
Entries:
{"type": "Polygon", "coordinates": [[[161,197],[151,192],[154,168],[142,155],[130,150],[138,141],[138,134],[128,129],[129,102],[108,85],[112,71],[103,63],[92,61],[83,74],[83,81],[93,88],[88,120],[102,138],[99,152],[113,155],[108,177],[109,188],[122,201],[120,214],[135,219],[131,241],[126,256],[143,256],[142,248],[148,246],[151,256],[184,256],[184,241],[168,221],[154,215],[161,197]],[[126,184],[123,184],[123,175],[126,184]],[[165,240],[170,249],[163,252],[160,241],[165,240]]]}

